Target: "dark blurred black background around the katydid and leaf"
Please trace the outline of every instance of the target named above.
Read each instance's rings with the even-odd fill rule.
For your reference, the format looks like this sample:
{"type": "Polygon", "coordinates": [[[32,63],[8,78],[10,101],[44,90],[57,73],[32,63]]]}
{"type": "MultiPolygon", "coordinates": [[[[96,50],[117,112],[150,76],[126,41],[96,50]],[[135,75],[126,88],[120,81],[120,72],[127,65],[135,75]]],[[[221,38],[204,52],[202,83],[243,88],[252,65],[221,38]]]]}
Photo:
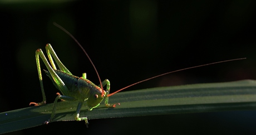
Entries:
{"type": "MultiPolygon", "coordinates": [[[[233,58],[159,77],[126,89],[256,78],[255,1],[1,1],[0,111],[41,102],[35,51],[51,43],[76,76],[99,84],[85,54],[60,24],[77,38],[111,91],[176,69],[233,58]]],[[[43,65],[41,63],[41,65],[43,65]]],[[[42,68],[46,69],[43,65],[42,68]]],[[[43,74],[48,103],[57,89],[43,74]]],[[[111,100],[111,98],[110,98],[111,100]]],[[[176,114],[54,122],[13,133],[140,134],[255,133],[255,111],[176,114]]]]}

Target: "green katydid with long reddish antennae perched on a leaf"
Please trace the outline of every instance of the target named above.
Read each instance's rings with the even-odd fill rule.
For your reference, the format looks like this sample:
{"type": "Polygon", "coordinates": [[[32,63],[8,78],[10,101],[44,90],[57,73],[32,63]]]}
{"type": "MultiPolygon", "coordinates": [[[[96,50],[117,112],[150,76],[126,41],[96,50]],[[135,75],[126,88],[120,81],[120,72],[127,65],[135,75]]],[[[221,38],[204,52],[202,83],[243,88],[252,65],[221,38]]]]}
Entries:
{"type": "Polygon", "coordinates": [[[75,120],[76,121],[84,120],[85,124],[87,126],[88,125],[87,117],[80,117],[80,111],[81,111],[83,103],[87,103],[87,106],[90,111],[93,108],[96,108],[97,106],[99,106],[100,103],[103,101],[103,99],[105,99],[106,107],[116,107],[115,104],[109,104],[109,97],[117,92],[122,91],[125,88],[134,86],[135,84],[145,82],[145,81],[148,81],[149,79],[153,79],[156,77],[164,76],[165,74],[183,71],[183,70],[190,69],[190,68],[202,67],[202,66],[207,66],[210,64],[216,64],[216,63],[221,63],[221,62],[235,61],[235,60],[239,60],[239,59],[245,59],[245,58],[231,59],[231,60],[227,60],[227,61],[214,62],[214,63],[209,63],[209,64],[203,64],[200,66],[179,69],[177,71],[172,71],[172,72],[160,74],[155,77],[144,79],[140,82],[136,82],[134,84],[131,84],[127,87],[119,89],[118,91],[110,94],[110,81],[108,79],[105,79],[103,82],[101,82],[99,73],[97,72],[96,67],[94,66],[90,57],[86,53],[85,49],[83,49],[83,47],[76,40],[76,38],[73,37],[72,34],[70,34],[68,31],[66,31],[66,29],[59,26],[57,23],[54,23],[54,24],[55,24],[55,26],[57,26],[58,28],[62,29],[64,32],[66,32],[69,36],[71,36],[71,38],[73,38],[75,40],[75,42],[78,44],[78,46],[80,46],[82,48],[83,52],[86,54],[86,56],[88,57],[88,59],[90,60],[90,62],[92,64],[93,68],[95,69],[97,76],[99,78],[100,84],[98,86],[96,86],[94,83],[89,81],[86,78],[86,73],[83,73],[82,77],[73,76],[72,73],[70,71],[68,71],[68,69],[62,64],[60,59],[58,59],[57,54],[53,50],[51,44],[46,44],[46,52],[47,52],[47,56],[48,56],[50,63],[48,63],[48,61],[45,57],[45,54],[43,54],[43,51],[41,49],[37,49],[36,50],[36,63],[37,63],[37,70],[38,70],[38,76],[39,76],[39,80],[40,80],[40,87],[41,87],[41,91],[42,91],[43,101],[40,103],[31,102],[31,103],[29,103],[29,105],[35,104],[35,106],[40,106],[42,104],[46,104],[46,95],[45,95],[45,91],[43,88],[42,73],[41,73],[41,67],[40,67],[40,57],[48,69],[48,71],[44,70],[46,72],[47,76],[50,77],[50,79],[52,80],[55,87],[57,89],[59,89],[62,93],[62,95],[58,93],[58,96],[55,98],[55,101],[53,103],[51,117],[47,121],[43,122],[43,124],[48,124],[55,117],[56,105],[57,105],[58,99],[61,99],[64,101],[77,101],[78,105],[77,105],[77,109],[76,109],[75,120]],[[57,63],[57,66],[59,69],[56,68],[53,59],[57,63]],[[103,87],[105,87],[105,86],[106,86],[106,90],[103,89],[103,87]]]}

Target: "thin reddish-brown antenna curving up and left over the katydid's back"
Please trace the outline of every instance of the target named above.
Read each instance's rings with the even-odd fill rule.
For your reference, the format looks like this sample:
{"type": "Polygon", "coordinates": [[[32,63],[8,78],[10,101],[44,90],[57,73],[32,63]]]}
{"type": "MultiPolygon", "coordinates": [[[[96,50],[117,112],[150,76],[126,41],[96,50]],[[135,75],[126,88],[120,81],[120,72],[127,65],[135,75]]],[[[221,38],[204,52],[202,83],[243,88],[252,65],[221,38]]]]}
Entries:
{"type": "MultiPolygon", "coordinates": [[[[98,73],[96,67],[94,66],[94,64],[93,64],[93,62],[92,62],[92,60],[91,60],[91,58],[89,57],[89,55],[88,55],[87,52],[85,51],[85,49],[83,49],[83,47],[82,47],[81,44],[77,41],[77,39],[76,39],[70,32],[68,32],[65,28],[63,28],[62,26],[60,26],[60,25],[57,24],[56,22],[53,22],[53,24],[54,24],[56,27],[60,28],[62,31],[66,32],[66,33],[78,44],[78,46],[80,46],[80,48],[82,49],[82,51],[86,54],[87,58],[88,58],[89,61],[91,62],[92,66],[93,66],[93,68],[94,68],[94,70],[95,70],[95,72],[97,73],[97,76],[98,76],[99,81],[100,81],[100,87],[101,87],[101,89],[103,90],[103,86],[102,86],[102,83],[101,83],[100,75],[99,75],[99,73],[98,73]]],[[[103,97],[103,96],[104,96],[104,92],[101,93],[101,97],[103,97]]]]}

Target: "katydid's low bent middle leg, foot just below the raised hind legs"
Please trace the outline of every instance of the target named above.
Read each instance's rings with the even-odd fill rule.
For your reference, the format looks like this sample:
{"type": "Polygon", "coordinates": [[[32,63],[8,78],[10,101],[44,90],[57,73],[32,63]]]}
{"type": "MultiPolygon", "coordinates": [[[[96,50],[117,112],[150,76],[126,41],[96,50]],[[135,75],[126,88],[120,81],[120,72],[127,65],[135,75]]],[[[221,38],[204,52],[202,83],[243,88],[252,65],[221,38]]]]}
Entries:
{"type": "MultiPolygon", "coordinates": [[[[55,98],[55,101],[53,102],[53,108],[52,108],[51,118],[49,118],[47,121],[43,122],[43,124],[48,124],[48,123],[51,122],[52,119],[55,117],[55,114],[56,114],[56,104],[57,104],[57,102],[58,102],[58,99],[65,100],[65,101],[76,101],[76,98],[74,98],[74,97],[58,95],[58,96],[55,98]]],[[[88,122],[88,121],[87,121],[87,122],[88,122]]]]}

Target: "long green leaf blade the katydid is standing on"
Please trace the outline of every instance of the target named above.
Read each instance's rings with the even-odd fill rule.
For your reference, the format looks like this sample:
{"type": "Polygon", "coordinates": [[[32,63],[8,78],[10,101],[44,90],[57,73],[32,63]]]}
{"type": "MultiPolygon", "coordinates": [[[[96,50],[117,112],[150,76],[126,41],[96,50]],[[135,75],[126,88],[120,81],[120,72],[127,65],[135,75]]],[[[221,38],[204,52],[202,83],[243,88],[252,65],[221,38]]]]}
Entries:
{"type": "MultiPolygon", "coordinates": [[[[104,104],[80,113],[88,119],[153,116],[176,113],[251,110],[256,108],[256,82],[244,80],[225,83],[190,84],[174,87],[120,92],[110,97],[116,108],[104,104]]],[[[0,133],[40,126],[50,118],[53,104],[0,113],[0,133]]],[[[75,121],[77,102],[58,102],[55,121],[75,121]]]]}

